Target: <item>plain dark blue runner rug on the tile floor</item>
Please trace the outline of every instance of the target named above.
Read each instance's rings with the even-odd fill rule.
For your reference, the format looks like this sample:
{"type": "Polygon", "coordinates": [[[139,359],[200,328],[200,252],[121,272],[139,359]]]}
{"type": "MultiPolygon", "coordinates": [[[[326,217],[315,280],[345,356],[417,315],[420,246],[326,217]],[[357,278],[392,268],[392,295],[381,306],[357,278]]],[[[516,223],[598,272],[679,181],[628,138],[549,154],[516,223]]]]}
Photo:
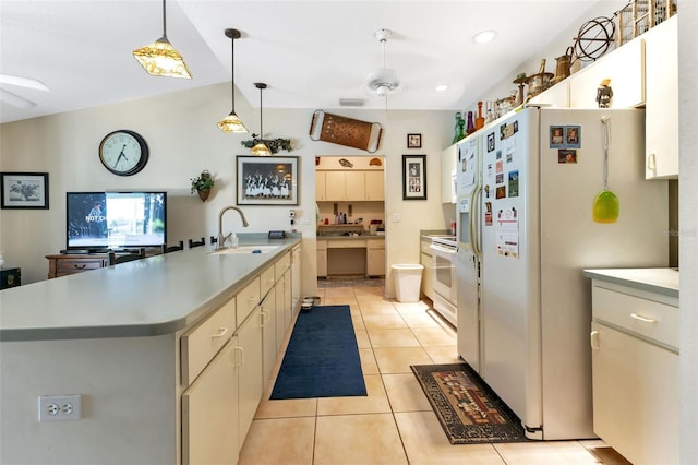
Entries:
{"type": "Polygon", "coordinates": [[[349,306],[321,306],[296,320],[272,400],[366,395],[349,306]]]}

